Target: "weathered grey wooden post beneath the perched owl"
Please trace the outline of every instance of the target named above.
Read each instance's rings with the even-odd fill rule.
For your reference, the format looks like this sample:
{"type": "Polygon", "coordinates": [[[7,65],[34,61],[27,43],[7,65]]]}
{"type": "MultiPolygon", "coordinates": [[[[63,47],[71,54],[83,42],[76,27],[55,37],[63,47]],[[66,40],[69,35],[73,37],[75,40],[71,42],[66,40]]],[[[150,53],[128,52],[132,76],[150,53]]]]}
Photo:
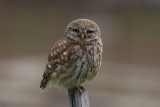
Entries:
{"type": "Polygon", "coordinates": [[[79,89],[68,89],[70,107],[90,107],[88,91],[84,88],[83,92],[79,89]]]}

